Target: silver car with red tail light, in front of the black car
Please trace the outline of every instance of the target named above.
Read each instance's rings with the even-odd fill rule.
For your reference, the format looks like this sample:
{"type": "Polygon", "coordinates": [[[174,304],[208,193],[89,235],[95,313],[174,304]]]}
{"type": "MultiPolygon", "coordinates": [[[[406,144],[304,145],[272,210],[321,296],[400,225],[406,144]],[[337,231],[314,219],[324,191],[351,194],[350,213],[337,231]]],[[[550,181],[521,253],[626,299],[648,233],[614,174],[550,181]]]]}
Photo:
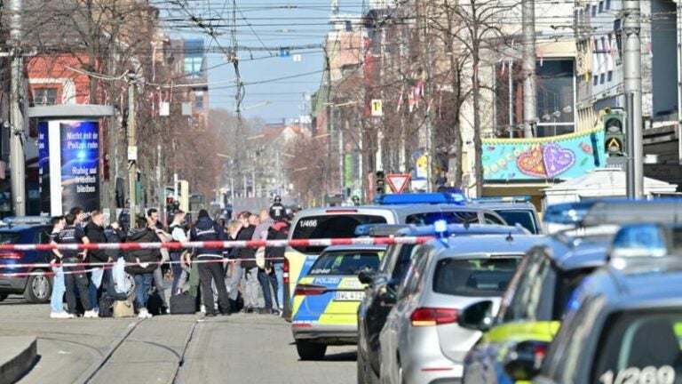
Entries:
{"type": "Polygon", "coordinates": [[[380,298],[396,302],[379,336],[381,381],[458,383],[464,356],[481,336],[457,324],[458,310],[481,299],[499,307],[517,264],[542,238],[450,237],[421,246],[398,292],[380,298]]]}

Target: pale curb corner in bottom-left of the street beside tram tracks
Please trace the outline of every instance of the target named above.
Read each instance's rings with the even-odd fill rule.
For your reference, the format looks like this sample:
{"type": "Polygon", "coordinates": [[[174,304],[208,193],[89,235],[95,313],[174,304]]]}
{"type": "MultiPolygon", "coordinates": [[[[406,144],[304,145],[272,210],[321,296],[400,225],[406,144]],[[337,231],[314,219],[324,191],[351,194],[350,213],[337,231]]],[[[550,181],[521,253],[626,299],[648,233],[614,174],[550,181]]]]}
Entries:
{"type": "Polygon", "coordinates": [[[36,338],[33,336],[0,337],[0,345],[4,349],[0,353],[0,382],[17,382],[36,363],[36,338]]]}

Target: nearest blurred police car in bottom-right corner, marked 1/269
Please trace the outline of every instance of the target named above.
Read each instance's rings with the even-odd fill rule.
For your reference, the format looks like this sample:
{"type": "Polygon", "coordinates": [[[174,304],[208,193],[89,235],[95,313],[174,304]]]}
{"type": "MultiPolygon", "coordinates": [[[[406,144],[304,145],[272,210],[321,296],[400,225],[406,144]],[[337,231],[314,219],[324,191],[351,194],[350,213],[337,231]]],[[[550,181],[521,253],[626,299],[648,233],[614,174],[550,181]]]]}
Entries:
{"type": "Polygon", "coordinates": [[[505,370],[537,383],[682,383],[680,234],[660,225],[623,228],[609,265],[569,302],[539,375],[533,355],[546,346],[535,342],[505,370]]]}

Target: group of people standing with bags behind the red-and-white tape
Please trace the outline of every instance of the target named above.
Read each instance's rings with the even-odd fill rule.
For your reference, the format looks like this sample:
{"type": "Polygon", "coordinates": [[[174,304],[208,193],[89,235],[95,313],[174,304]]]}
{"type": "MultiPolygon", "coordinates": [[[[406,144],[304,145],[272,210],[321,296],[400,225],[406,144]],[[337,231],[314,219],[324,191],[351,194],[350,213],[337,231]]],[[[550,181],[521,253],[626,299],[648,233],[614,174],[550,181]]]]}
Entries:
{"type": "MultiPolygon", "coordinates": [[[[64,216],[52,218],[52,244],[286,239],[289,232],[289,218],[279,201],[258,215],[241,212],[236,220],[224,217],[212,220],[206,210],[201,210],[191,225],[186,223],[186,213],[177,210],[172,213],[168,228],[159,220],[159,213],[150,209],[147,216],[137,218],[136,228],[127,232],[117,221],[105,228],[102,212],[90,212],[87,221],[85,216],[83,208],[75,207],[64,216]]],[[[173,275],[171,295],[188,293],[198,297],[207,316],[229,315],[238,310],[282,313],[283,248],[197,248],[185,252],[54,249],[52,253],[54,284],[50,316],[53,318],[74,318],[81,314],[97,317],[103,295],[125,300],[125,276],[112,268],[118,262],[124,263],[125,272],[134,279],[134,304],[139,317],[152,316],[147,307],[153,285],[157,300],[161,300],[160,309],[155,313],[170,313],[162,271],[163,264],[169,260],[173,275]],[[63,264],[66,266],[62,267],[63,264]],[[261,293],[265,307],[259,308],[261,293]],[[65,296],[67,310],[63,304],[65,296]]]]}

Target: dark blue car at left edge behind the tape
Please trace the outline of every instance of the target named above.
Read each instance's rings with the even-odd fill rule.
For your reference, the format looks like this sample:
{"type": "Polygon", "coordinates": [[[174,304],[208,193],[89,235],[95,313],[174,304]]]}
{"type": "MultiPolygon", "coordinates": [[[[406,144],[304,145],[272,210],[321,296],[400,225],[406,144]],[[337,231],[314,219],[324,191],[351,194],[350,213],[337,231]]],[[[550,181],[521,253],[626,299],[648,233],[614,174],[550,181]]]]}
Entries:
{"type": "MultiPolygon", "coordinates": [[[[0,244],[49,244],[49,225],[9,225],[0,227],[0,244]]],[[[49,251],[0,251],[0,265],[47,263],[49,251]]],[[[0,268],[0,274],[50,271],[50,268],[0,268]]],[[[10,294],[22,294],[31,303],[46,303],[52,295],[52,277],[0,275],[0,301],[10,294]]]]}

